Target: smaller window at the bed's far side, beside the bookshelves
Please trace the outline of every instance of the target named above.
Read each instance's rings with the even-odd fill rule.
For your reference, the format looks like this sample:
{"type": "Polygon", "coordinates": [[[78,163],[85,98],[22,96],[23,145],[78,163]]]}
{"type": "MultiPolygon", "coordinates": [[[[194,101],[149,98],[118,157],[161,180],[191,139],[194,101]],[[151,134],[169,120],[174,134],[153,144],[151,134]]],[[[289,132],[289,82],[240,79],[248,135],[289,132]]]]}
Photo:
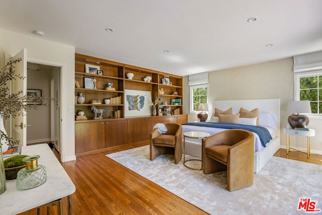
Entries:
{"type": "Polygon", "coordinates": [[[190,113],[197,113],[198,103],[208,103],[208,85],[190,86],[190,113]]]}

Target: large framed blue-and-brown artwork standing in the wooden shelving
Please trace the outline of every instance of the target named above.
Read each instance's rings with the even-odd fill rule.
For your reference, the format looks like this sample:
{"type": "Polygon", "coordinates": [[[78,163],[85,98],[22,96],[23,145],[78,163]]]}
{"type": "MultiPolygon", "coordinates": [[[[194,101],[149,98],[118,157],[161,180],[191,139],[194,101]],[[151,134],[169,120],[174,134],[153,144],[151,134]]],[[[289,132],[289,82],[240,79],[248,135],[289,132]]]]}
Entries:
{"type": "Polygon", "coordinates": [[[151,116],[150,106],[151,92],[141,90],[126,90],[125,96],[125,117],[151,116]]]}

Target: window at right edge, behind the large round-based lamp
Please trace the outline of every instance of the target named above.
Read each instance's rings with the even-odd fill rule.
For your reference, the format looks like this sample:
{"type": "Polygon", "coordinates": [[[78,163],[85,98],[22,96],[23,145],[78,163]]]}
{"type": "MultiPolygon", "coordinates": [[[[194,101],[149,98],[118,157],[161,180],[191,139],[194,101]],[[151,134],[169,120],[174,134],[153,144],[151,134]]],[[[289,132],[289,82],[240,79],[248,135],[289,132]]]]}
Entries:
{"type": "Polygon", "coordinates": [[[322,70],[295,74],[296,100],[308,100],[311,113],[322,115],[322,70]]]}

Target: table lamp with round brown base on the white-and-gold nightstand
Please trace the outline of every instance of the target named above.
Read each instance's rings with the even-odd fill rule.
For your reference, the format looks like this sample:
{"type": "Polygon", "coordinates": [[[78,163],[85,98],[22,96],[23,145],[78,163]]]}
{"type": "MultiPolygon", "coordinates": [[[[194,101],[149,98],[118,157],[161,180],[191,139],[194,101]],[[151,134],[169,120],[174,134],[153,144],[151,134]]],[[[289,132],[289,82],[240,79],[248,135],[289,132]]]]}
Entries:
{"type": "Polygon", "coordinates": [[[290,101],[287,104],[287,112],[292,113],[287,119],[292,128],[306,128],[309,118],[299,113],[311,113],[309,101],[290,101]]]}

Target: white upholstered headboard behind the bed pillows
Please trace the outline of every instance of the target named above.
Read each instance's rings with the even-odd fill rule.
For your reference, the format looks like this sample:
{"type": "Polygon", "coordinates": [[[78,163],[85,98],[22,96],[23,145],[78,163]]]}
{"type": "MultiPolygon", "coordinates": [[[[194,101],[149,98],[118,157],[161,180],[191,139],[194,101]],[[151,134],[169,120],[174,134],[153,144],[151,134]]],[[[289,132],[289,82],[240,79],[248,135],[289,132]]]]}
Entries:
{"type": "Polygon", "coordinates": [[[272,112],[276,116],[277,128],[276,136],[280,136],[280,124],[281,124],[281,114],[280,114],[280,99],[250,99],[250,100],[222,100],[213,101],[212,106],[212,116],[214,114],[215,108],[225,111],[232,107],[232,113],[239,113],[240,107],[243,107],[249,111],[258,108],[259,112],[272,112]]]}

